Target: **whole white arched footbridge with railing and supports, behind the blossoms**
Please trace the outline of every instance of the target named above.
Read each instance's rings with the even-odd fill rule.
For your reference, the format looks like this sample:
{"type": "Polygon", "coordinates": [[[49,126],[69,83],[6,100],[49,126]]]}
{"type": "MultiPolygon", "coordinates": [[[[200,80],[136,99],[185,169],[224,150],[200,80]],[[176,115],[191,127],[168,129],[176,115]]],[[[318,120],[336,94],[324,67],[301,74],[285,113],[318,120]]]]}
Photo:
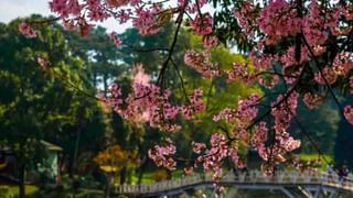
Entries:
{"type": "MultiPolygon", "coordinates": [[[[339,178],[335,173],[278,172],[272,176],[266,176],[258,170],[239,174],[228,172],[217,184],[232,189],[277,190],[281,193],[281,197],[288,198],[335,198],[342,194],[353,197],[353,179],[339,178]]],[[[151,185],[121,185],[116,187],[115,193],[129,197],[175,197],[180,195],[190,197],[189,193],[192,190],[210,188],[213,189],[211,197],[215,197],[216,189],[212,176],[196,174],[151,185]]]]}

